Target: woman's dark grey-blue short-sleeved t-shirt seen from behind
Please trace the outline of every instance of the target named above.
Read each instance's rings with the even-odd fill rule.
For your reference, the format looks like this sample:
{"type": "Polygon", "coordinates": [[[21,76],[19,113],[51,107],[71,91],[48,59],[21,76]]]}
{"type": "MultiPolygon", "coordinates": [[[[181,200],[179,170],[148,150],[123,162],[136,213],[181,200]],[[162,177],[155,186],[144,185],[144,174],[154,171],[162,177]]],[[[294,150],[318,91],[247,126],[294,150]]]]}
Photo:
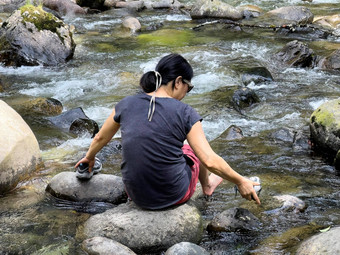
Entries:
{"type": "Polygon", "coordinates": [[[160,209],[175,204],[186,193],[191,178],[182,146],[201,116],[174,98],[156,97],[152,121],[148,120],[151,96],[128,96],[115,107],[114,120],[122,134],[123,182],[140,207],[160,209]]]}

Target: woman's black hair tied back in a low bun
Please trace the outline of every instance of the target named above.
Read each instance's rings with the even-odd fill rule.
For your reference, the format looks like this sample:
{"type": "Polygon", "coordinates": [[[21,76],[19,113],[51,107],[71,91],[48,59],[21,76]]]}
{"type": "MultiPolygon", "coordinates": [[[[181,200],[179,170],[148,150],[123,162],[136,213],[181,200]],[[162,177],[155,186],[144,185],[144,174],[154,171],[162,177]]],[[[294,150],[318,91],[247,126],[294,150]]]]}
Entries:
{"type": "MultiPolygon", "coordinates": [[[[194,76],[192,67],[188,61],[179,54],[170,54],[163,57],[156,66],[156,71],[162,76],[162,84],[175,80],[178,76],[191,80],[194,76]]],[[[145,93],[153,92],[156,89],[156,75],[154,71],[143,74],[139,85],[145,93]]],[[[173,85],[174,86],[174,85],[173,85]]]]}

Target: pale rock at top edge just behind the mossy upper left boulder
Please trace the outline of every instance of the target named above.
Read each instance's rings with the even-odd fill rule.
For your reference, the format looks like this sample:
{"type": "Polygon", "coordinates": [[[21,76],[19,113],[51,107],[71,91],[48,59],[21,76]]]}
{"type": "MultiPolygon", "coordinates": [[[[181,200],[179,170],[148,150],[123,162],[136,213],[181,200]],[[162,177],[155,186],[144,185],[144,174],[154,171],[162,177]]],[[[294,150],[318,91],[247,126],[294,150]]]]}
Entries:
{"type": "Polygon", "coordinates": [[[86,14],[86,10],[70,0],[43,0],[43,5],[62,15],[86,14]]]}

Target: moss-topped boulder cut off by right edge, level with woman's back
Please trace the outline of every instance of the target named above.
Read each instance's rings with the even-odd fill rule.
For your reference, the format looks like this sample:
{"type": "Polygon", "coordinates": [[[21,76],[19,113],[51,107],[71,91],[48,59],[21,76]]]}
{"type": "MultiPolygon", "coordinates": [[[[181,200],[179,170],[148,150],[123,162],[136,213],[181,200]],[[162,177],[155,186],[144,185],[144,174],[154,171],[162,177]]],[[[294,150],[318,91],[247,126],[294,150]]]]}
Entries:
{"type": "Polygon", "coordinates": [[[334,158],[340,150],[340,99],[327,101],[312,113],[310,135],[315,150],[334,158]]]}

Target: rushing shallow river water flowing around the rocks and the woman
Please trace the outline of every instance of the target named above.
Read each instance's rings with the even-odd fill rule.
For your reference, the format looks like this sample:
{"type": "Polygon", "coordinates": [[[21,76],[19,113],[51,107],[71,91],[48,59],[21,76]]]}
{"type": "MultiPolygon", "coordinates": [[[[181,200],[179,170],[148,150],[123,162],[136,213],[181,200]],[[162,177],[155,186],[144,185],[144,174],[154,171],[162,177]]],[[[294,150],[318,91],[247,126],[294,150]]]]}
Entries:
{"type": "MultiPolygon", "coordinates": [[[[187,2],[190,3],[190,2],[187,2]]],[[[228,1],[233,6],[254,4],[268,11],[287,5],[305,5],[314,14],[338,14],[338,1],[228,1]]],[[[195,88],[184,101],[204,117],[203,127],[212,147],[238,172],[262,180],[262,206],[235,197],[233,185],[223,182],[201,211],[208,222],[214,215],[244,207],[262,222],[255,233],[205,233],[201,246],[212,254],[294,254],[302,240],[320,229],[340,224],[340,181],[333,166],[308,148],[292,141],[274,139],[284,128],[308,137],[309,117],[323,102],[338,98],[339,74],[318,69],[280,68],[273,54],[287,42],[300,39],[316,54],[326,56],[339,48],[339,39],[311,40],[296,34],[282,35],[269,29],[236,31],[223,24],[193,30],[198,25],[185,13],[167,10],[135,13],[143,31],[131,35],[120,24],[127,12],[65,17],[76,28],[77,44],[72,61],[57,68],[0,67],[7,84],[0,98],[11,104],[28,96],[52,97],[64,111],[82,107],[101,125],[114,105],[138,91],[139,77],[153,70],[158,60],[171,52],[182,54],[193,66],[195,88]],[[150,25],[163,26],[147,31],[150,25]],[[241,86],[247,67],[264,66],[273,82],[251,84],[260,103],[236,111],[225,91],[241,86]],[[244,138],[224,141],[220,135],[237,125],[244,138]],[[274,195],[293,195],[307,205],[303,213],[268,213],[266,201],[274,195]]],[[[41,117],[24,116],[40,144],[44,166],[0,198],[1,254],[82,254],[76,231],[105,204],[68,205],[44,192],[48,181],[72,167],[86,152],[90,137],[75,137],[44,125],[41,117]]],[[[119,139],[119,134],[116,135],[119,139]]],[[[120,154],[102,153],[103,172],[119,173],[120,154]]]]}

